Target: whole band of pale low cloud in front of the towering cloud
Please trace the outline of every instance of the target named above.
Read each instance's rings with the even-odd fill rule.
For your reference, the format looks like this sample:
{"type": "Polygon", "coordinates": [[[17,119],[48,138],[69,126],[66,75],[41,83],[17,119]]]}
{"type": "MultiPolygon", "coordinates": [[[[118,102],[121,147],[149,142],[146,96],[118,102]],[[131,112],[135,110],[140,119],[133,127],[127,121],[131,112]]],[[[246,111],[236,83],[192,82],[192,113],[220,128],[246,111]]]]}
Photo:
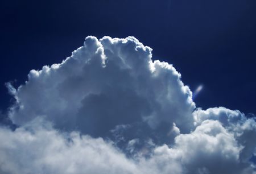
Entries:
{"type": "MultiPolygon", "coordinates": [[[[218,121],[204,121],[172,147],[155,146],[127,158],[114,142],[59,132],[36,120],[15,131],[0,129],[1,173],[250,173],[242,146],[218,121]]],[[[130,150],[138,139],[129,142],[130,150]]]]}

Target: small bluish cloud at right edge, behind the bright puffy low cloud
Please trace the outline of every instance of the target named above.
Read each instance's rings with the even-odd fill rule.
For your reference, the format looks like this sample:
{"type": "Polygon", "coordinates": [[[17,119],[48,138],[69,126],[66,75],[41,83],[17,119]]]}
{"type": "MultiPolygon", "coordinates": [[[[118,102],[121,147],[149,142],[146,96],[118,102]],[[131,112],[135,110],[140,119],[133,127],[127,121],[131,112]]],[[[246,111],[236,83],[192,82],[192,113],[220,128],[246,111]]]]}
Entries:
{"type": "Polygon", "coordinates": [[[241,160],[249,160],[256,150],[255,118],[246,118],[239,110],[229,110],[225,107],[214,107],[207,110],[198,109],[193,112],[195,125],[204,120],[212,119],[220,122],[226,130],[232,132],[238,143],[243,146],[241,160]]]}

